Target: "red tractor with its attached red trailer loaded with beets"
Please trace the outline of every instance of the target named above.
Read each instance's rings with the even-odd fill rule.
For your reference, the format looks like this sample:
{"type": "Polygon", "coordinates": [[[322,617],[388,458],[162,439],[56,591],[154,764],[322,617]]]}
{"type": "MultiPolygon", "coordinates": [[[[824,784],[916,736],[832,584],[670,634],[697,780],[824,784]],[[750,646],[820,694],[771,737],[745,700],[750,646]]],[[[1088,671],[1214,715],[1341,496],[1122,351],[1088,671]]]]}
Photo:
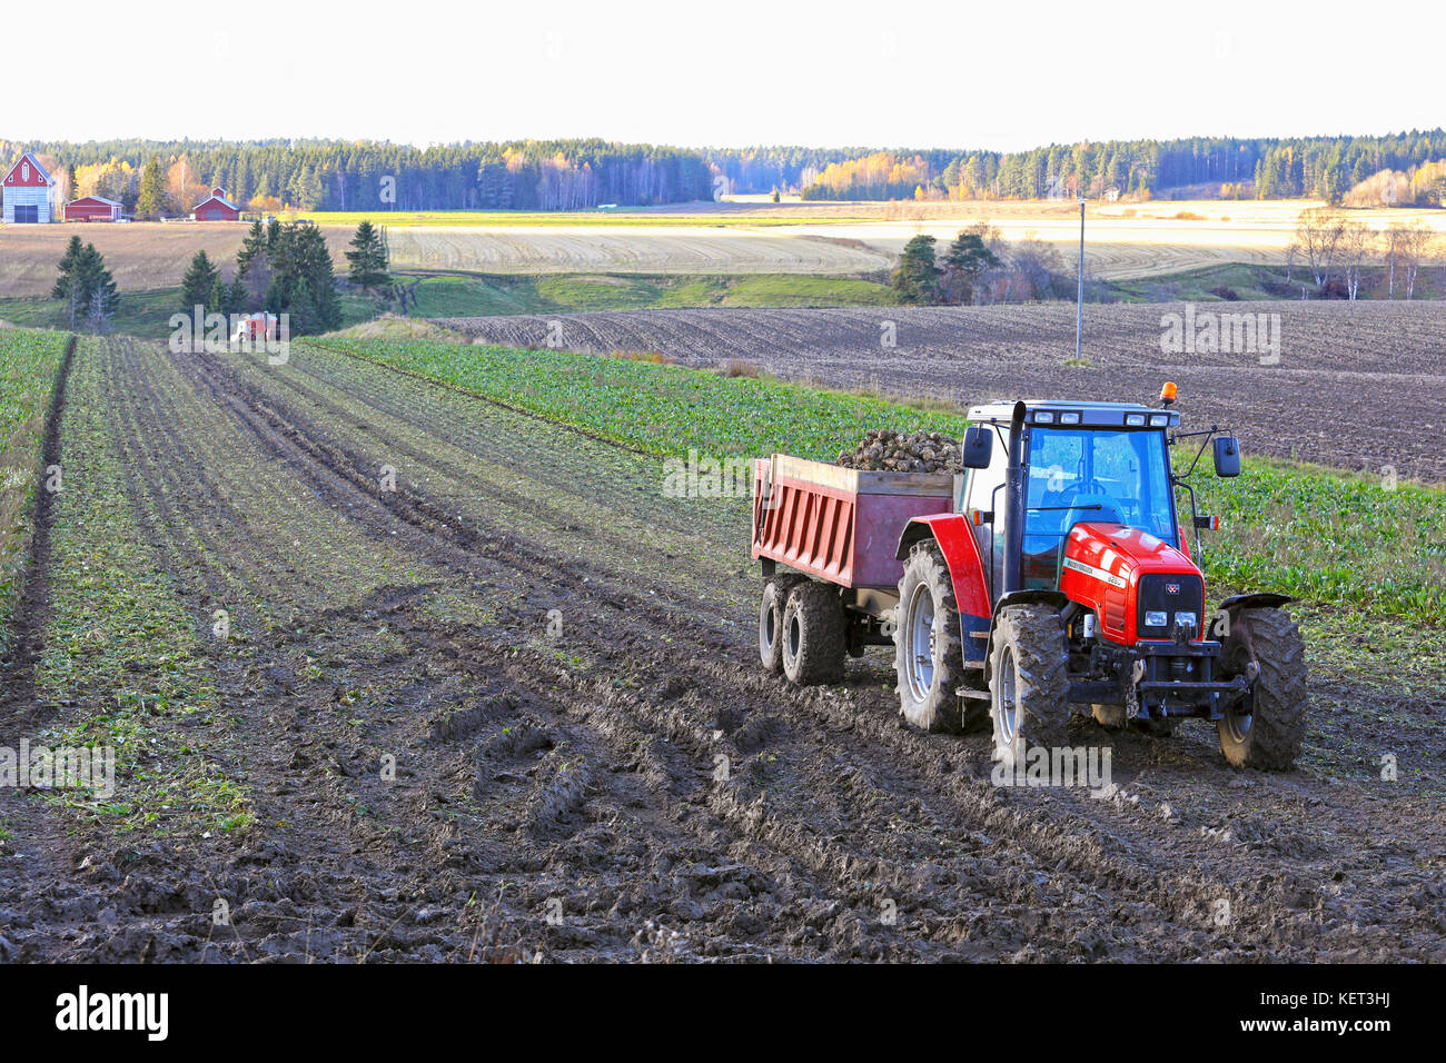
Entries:
{"type": "Polygon", "coordinates": [[[1073,710],[1157,735],[1213,720],[1236,767],[1284,769],[1306,729],[1306,662],[1291,599],[1206,612],[1176,489],[1219,428],[1116,402],[976,406],[966,474],[870,473],[782,454],[755,466],[752,555],[765,577],[759,657],[798,684],[837,681],[846,654],[892,645],[899,712],[927,730],[993,726],[995,756],[1064,745],[1073,710]],[[1199,450],[1183,473],[1173,447],[1199,450]]]}

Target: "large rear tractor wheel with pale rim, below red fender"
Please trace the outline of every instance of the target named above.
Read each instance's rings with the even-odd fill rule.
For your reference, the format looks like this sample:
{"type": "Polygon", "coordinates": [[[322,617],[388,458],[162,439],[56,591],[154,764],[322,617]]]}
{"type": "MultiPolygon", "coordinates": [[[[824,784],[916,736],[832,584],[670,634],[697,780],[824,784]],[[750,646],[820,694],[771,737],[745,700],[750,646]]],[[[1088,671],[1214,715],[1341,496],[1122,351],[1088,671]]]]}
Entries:
{"type": "Polygon", "coordinates": [[[957,733],[986,719],[983,701],[959,707],[964,657],[959,607],[949,565],[933,539],[914,544],[899,580],[898,622],[894,629],[894,671],[899,714],[915,727],[957,733]]]}

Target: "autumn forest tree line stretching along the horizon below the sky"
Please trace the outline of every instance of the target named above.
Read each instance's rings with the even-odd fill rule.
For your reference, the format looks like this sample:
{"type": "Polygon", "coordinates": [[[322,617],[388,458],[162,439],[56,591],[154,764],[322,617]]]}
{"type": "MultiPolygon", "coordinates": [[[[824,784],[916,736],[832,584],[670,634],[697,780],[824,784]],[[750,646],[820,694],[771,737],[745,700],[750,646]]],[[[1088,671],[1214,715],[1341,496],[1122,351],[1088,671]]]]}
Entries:
{"type": "Polygon", "coordinates": [[[35,150],[67,198],[185,213],[213,185],[244,208],[584,210],[687,202],[726,191],[805,200],[1351,197],[1382,171],[1392,202],[1440,205],[1446,130],[1387,136],[1187,137],[1048,145],[1022,152],[800,146],[685,149],[599,139],[412,148],[343,140],[95,140],[35,150]],[[150,195],[146,189],[150,189],[150,195]]]}

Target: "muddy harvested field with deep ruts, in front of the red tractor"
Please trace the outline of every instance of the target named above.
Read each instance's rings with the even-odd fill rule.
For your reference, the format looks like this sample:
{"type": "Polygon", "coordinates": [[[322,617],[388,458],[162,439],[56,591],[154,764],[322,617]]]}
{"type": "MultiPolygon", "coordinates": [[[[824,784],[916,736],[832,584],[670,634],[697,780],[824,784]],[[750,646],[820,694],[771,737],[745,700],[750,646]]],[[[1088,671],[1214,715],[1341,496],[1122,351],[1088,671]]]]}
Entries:
{"type": "MultiPolygon", "coordinates": [[[[652,458],[305,347],[117,338],[68,404],[107,411],[197,629],[231,610],[221,713],[156,726],[204,727],[254,823],[4,794],[7,959],[1446,959],[1434,769],[1235,772],[1202,725],[1077,720],[1113,795],[999,790],[988,736],[898,722],[882,651],[837,688],[761,674],[746,500],[664,498],[652,458]]],[[[1312,693],[1310,748],[1378,717],[1372,749],[1440,762],[1439,688],[1436,730],[1312,693]]],[[[0,738],[98,710],[12,700],[0,738]]]]}

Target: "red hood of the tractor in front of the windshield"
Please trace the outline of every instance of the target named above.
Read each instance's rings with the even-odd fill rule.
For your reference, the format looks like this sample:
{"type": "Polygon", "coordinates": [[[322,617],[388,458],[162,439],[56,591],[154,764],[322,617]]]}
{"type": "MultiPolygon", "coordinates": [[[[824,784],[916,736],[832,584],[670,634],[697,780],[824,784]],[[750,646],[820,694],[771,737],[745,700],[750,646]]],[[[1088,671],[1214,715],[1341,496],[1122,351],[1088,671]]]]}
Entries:
{"type": "Polygon", "coordinates": [[[1193,577],[1203,597],[1200,570],[1168,542],[1122,524],[1086,521],[1070,529],[1060,590],[1099,615],[1106,638],[1134,645],[1139,579],[1151,573],[1193,577]]]}

